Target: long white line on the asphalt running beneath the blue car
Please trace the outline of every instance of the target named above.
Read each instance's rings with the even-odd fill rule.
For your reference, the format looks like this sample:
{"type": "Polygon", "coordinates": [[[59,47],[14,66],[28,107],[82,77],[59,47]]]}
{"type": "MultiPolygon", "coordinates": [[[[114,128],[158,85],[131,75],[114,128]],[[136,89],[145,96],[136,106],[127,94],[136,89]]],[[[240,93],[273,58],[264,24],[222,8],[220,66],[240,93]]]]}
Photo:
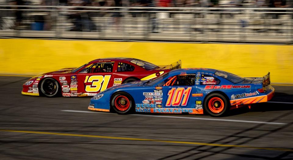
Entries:
{"type": "MultiPolygon", "coordinates": [[[[81,111],[81,110],[60,110],[63,112],[81,112],[81,113],[104,113],[95,111],[81,111]]],[[[109,113],[104,113],[109,114],[109,113]]],[[[228,121],[228,122],[243,122],[243,123],[261,123],[270,125],[286,125],[287,123],[279,122],[262,122],[262,121],[243,121],[243,120],[232,120],[232,119],[221,119],[221,118],[195,118],[195,117],[183,117],[183,116],[157,116],[157,115],[145,115],[145,114],[129,114],[131,116],[146,116],[146,117],[163,117],[163,118],[181,118],[181,119],[197,119],[197,120],[208,120],[208,121],[228,121]]]]}

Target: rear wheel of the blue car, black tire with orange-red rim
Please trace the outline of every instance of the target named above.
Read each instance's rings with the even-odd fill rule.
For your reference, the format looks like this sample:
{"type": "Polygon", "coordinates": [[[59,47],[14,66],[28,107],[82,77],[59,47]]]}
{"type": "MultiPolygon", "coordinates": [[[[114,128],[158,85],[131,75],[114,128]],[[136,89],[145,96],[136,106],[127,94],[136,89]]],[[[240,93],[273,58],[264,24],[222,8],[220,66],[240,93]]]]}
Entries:
{"type": "Polygon", "coordinates": [[[204,111],[212,117],[225,116],[229,108],[230,103],[219,93],[210,94],[204,100],[204,111]]]}

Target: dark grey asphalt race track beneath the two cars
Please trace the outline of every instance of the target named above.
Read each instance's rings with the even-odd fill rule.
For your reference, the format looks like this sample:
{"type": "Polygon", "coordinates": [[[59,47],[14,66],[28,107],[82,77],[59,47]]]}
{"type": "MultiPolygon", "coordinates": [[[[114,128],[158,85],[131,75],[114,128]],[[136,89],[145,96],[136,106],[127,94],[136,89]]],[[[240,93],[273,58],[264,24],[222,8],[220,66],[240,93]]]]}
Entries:
{"type": "Polygon", "coordinates": [[[21,95],[28,79],[0,76],[0,159],[293,159],[293,86],[214,118],[94,112],[90,98],[21,95]]]}

